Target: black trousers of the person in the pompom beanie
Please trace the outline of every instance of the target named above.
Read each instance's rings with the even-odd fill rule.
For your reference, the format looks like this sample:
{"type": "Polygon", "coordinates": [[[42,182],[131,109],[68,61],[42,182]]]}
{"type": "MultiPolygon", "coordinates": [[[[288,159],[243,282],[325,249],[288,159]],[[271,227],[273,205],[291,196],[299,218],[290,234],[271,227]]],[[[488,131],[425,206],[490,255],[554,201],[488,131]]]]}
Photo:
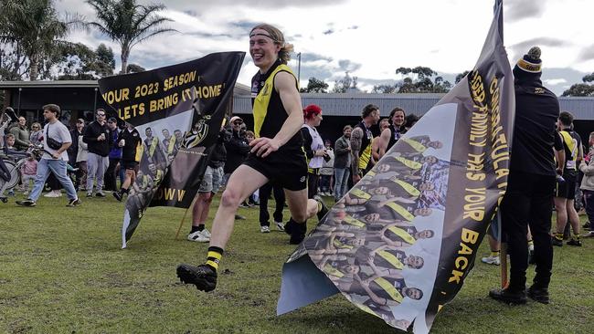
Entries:
{"type": "Polygon", "coordinates": [[[551,216],[555,176],[511,172],[501,204],[502,232],[510,256],[510,284],[514,291],[525,289],[528,267],[528,225],[535,243],[534,286],[547,288],[553,267],[551,216]]]}

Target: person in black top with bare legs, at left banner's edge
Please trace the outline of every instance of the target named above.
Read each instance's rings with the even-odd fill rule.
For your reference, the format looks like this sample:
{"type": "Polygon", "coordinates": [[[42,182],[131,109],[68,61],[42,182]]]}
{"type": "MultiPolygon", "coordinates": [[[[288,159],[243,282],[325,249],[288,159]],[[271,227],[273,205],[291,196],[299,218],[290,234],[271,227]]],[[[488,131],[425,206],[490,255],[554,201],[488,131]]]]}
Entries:
{"type": "Polygon", "coordinates": [[[138,162],[140,162],[143,154],[143,140],[140,138],[138,130],[130,123],[126,123],[126,129],[120,132],[118,136],[118,146],[122,148],[122,161],[120,168],[126,171],[126,176],[123,180],[119,192],[113,192],[113,197],[122,202],[124,193],[130,191],[130,185],[136,179],[136,171],[138,162]]]}

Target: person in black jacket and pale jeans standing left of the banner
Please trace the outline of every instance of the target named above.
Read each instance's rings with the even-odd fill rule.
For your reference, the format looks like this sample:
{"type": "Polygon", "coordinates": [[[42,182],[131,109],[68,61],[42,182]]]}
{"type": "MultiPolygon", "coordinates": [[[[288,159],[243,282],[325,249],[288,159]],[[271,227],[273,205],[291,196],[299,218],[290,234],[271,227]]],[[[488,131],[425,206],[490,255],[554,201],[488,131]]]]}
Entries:
{"type": "Polygon", "coordinates": [[[110,164],[111,130],[105,121],[105,110],[98,109],[95,113],[96,120],[90,122],[82,141],[87,143],[87,197],[93,196],[93,184],[97,181],[95,196],[105,197],[103,193],[103,176],[110,164]]]}

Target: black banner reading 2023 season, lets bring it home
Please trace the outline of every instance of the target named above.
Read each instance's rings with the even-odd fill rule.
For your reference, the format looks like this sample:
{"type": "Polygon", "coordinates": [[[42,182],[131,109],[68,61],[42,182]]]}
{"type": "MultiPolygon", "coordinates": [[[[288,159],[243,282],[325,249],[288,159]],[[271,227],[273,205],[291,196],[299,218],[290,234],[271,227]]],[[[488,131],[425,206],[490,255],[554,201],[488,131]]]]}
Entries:
{"type": "Polygon", "coordinates": [[[147,207],[192,204],[209,148],[230,114],[243,57],[244,52],[214,53],[99,80],[103,99],[141,137],[135,158],[140,168],[125,204],[122,248],[147,207]]]}

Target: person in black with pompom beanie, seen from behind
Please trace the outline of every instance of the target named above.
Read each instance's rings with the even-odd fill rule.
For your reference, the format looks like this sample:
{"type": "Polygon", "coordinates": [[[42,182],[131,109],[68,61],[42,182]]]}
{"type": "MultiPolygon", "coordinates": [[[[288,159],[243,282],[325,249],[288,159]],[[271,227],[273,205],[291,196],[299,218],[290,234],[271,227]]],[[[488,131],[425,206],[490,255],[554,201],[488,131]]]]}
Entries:
{"type": "Polygon", "coordinates": [[[537,302],[549,303],[548,285],[553,266],[553,246],[549,235],[551,204],[556,175],[563,171],[565,154],[556,130],[559,102],[540,80],[540,53],[539,47],[532,47],[517,61],[513,71],[514,151],[507,190],[501,204],[502,235],[510,256],[510,279],[508,287],[493,289],[489,293],[490,297],[505,303],[526,302],[528,225],[535,244],[536,276],[527,295],[537,302]]]}

